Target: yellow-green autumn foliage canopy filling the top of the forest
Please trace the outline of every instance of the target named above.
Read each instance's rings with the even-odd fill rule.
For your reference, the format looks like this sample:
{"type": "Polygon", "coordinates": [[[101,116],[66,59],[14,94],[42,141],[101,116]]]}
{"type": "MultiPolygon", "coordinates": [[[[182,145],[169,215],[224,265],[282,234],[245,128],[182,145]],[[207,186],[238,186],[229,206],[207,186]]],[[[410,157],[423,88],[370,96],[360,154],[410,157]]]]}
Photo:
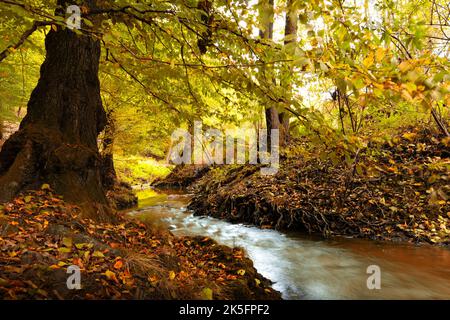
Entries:
{"type": "MultiPolygon", "coordinates": [[[[384,130],[386,114],[433,113],[448,133],[446,1],[272,2],[81,2],[84,27],[75,32],[101,40],[102,99],[115,110],[122,146],[162,155],[173,129],[193,119],[255,122],[269,107],[288,110],[297,130],[322,141],[384,130]],[[287,11],[298,30],[285,39],[287,11]],[[261,37],[272,15],[274,36],[261,37]],[[92,17],[101,22],[87,30],[92,17]],[[152,146],[154,138],[166,142],[152,146]]],[[[0,3],[1,105],[12,117],[37,81],[43,36],[66,17],[54,15],[53,1],[0,3]]]]}

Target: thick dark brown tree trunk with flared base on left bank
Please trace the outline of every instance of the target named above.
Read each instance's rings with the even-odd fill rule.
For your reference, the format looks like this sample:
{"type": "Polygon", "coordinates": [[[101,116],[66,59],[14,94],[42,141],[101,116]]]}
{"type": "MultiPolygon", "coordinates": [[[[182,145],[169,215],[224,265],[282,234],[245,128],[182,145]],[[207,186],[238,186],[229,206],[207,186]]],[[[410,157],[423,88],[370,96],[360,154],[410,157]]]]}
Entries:
{"type": "MultiPolygon", "coordinates": [[[[64,5],[60,0],[58,4],[64,5]]],[[[89,1],[91,2],[91,1],[89,1]]],[[[0,200],[48,183],[83,214],[110,220],[97,136],[106,122],[100,98],[100,43],[58,27],[19,130],[0,153],[0,200]]]]}

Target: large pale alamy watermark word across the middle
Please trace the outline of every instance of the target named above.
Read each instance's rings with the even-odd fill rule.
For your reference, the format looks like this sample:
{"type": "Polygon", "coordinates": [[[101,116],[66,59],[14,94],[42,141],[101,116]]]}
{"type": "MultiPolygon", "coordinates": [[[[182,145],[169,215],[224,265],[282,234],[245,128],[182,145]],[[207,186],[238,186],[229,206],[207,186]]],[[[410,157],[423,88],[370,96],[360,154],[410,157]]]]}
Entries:
{"type": "Polygon", "coordinates": [[[273,175],[279,168],[279,130],[238,129],[222,132],[203,131],[201,121],[195,121],[193,134],[177,129],[171,136],[168,160],[173,164],[262,164],[262,175],[273,175]],[[243,132],[243,134],[242,134],[243,132]],[[235,138],[236,135],[241,135],[235,138]],[[270,147],[268,147],[270,140],[270,147]],[[247,161],[248,160],[248,161],[247,161]]]}

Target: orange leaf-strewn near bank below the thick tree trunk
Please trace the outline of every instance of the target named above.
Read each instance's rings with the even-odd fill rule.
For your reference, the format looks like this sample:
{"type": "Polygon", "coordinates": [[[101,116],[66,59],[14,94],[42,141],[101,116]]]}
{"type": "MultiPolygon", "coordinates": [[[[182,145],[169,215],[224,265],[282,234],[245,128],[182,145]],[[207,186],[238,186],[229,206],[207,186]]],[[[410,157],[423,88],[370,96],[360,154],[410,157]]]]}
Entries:
{"type": "Polygon", "coordinates": [[[242,249],[117,213],[82,218],[42,190],[0,206],[0,299],[280,299],[242,249]],[[78,266],[81,289],[69,290],[78,266]]]}

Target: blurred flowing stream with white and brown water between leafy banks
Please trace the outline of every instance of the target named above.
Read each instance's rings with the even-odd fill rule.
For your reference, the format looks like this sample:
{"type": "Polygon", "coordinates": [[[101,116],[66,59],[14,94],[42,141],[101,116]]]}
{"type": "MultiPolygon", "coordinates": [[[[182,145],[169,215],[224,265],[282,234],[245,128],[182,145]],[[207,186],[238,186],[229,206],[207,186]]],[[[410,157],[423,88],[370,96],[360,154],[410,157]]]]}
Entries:
{"type": "Polygon", "coordinates": [[[209,236],[245,248],[284,299],[450,299],[449,249],[261,230],[194,217],[188,202],[184,194],[155,194],[130,214],[177,235],[209,236]],[[367,288],[370,265],[380,267],[379,290],[367,288]]]}

